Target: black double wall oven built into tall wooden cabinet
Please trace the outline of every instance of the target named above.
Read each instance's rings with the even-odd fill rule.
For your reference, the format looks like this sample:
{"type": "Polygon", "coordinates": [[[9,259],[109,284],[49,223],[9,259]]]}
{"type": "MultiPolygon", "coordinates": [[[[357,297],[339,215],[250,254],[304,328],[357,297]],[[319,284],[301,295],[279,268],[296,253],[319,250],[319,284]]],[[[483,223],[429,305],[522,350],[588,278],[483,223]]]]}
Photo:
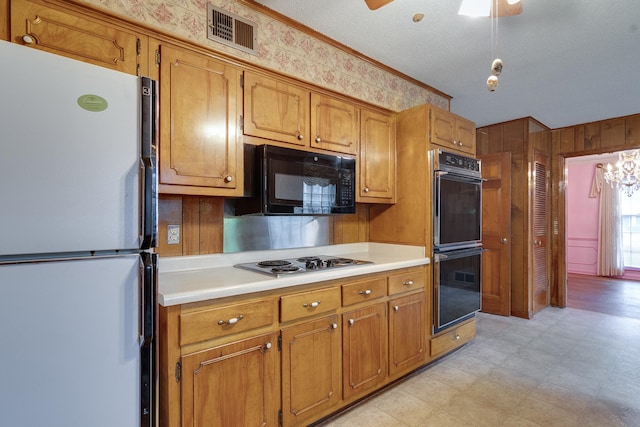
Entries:
{"type": "Polygon", "coordinates": [[[482,302],[480,160],[432,150],[434,333],[475,316],[482,302]]]}

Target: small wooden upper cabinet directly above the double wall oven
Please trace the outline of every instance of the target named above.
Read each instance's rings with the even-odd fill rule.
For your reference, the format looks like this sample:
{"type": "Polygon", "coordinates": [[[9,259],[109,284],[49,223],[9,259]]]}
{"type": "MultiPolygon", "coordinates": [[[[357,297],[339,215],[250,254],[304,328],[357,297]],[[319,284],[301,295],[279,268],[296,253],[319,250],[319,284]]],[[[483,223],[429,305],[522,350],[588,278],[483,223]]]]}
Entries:
{"type": "Polygon", "coordinates": [[[431,143],[449,150],[476,154],[475,123],[449,111],[432,107],[431,143]]]}

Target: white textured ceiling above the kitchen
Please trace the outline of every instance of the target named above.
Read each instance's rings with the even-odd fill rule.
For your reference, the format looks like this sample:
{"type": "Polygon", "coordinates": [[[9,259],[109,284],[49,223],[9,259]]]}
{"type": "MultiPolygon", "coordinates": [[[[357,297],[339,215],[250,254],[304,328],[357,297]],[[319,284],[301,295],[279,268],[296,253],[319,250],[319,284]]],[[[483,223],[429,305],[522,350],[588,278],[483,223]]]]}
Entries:
{"type": "Polygon", "coordinates": [[[452,96],[451,110],[477,126],[531,116],[559,128],[640,113],[640,0],[522,0],[521,15],[493,23],[457,15],[461,0],[374,11],[364,0],[256,2],[452,96]],[[504,69],[489,92],[494,57],[504,69]]]}

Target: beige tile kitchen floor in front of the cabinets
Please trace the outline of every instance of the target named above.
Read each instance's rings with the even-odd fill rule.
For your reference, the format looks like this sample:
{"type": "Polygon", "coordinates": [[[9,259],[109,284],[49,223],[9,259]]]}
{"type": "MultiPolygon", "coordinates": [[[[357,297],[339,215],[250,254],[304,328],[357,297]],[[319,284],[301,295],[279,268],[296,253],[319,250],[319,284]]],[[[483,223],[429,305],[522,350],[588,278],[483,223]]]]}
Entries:
{"type": "Polygon", "coordinates": [[[323,427],[640,426],[640,320],[478,315],[475,340],[323,427]]]}

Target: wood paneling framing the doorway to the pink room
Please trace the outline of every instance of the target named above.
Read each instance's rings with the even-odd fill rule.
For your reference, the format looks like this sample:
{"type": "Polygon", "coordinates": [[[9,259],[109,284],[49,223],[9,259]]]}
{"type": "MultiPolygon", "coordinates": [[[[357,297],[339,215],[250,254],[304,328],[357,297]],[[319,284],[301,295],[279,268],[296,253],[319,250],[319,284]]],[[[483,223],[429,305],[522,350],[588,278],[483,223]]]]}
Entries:
{"type": "Polygon", "coordinates": [[[551,132],[551,216],[553,256],[551,304],[567,304],[565,159],[640,148],[640,114],[554,129],[551,132]]]}

